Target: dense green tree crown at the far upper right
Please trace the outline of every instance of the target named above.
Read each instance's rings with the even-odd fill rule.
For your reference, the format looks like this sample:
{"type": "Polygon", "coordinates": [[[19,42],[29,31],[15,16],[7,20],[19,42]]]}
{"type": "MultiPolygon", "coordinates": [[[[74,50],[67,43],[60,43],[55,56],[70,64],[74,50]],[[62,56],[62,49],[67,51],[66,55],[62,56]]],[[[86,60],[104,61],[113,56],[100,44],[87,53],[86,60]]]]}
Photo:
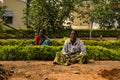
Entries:
{"type": "Polygon", "coordinates": [[[99,1],[95,5],[94,17],[95,21],[100,24],[101,28],[112,28],[114,27],[115,20],[119,20],[120,15],[117,10],[115,10],[114,3],[115,0],[99,1]]]}

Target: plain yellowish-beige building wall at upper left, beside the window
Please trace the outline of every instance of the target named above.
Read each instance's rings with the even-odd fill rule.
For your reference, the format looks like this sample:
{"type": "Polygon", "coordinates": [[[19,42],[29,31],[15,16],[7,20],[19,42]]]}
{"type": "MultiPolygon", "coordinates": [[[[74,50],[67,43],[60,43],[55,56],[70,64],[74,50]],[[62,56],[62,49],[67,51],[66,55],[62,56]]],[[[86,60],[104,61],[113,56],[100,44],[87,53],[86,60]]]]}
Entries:
{"type": "Polygon", "coordinates": [[[21,0],[4,0],[3,5],[7,6],[8,11],[13,12],[13,24],[11,26],[15,28],[26,28],[23,23],[23,9],[26,4],[21,0]]]}

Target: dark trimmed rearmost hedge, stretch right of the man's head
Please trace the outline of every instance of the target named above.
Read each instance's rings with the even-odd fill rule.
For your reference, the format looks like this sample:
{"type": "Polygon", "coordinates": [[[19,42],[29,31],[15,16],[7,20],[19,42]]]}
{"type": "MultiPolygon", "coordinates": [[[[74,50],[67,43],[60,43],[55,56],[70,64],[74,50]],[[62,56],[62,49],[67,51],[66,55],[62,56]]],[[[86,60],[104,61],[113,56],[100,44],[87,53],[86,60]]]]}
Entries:
{"type": "MultiPolygon", "coordinates": [[[[78,32],[79,37],[89,37],[90,30],[89,29],[76,29],[78,32]]],[[[103,29],[94,29],[92,30],[92,36],[93,37],[100,37],[102,35],[103,37],[118,37],[120,35],[120,29],[118,30],[103,30],[103,29]]]]}

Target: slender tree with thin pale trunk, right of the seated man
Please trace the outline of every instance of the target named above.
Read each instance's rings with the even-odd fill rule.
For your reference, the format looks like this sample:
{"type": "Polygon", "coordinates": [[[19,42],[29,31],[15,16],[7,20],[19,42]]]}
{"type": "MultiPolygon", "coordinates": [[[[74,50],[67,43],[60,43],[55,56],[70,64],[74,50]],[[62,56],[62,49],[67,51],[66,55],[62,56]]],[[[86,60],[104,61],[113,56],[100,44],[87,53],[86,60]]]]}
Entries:
{"type": "Polygon", "coordinates": [[[94,22],[94,6],[95,3],[92,1],[82,1],[76,7],[78,18],[82,20],[82,23],[87,23],[90,27],[90,39],[92,38],[92,27],[94,22]]]}

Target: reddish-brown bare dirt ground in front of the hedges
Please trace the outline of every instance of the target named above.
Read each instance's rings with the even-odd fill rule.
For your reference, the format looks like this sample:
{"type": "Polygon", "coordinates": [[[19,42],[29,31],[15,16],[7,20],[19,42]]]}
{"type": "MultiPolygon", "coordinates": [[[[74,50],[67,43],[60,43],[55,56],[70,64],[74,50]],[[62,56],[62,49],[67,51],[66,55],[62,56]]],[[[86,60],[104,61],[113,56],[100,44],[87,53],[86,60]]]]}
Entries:
{"type": "Polygon", "coordinates": [[[120,80],[120,61],[94,61],[70,66],[53,65],[52,61],[0,61],[13,69],[8,80],[120,80]]]}

